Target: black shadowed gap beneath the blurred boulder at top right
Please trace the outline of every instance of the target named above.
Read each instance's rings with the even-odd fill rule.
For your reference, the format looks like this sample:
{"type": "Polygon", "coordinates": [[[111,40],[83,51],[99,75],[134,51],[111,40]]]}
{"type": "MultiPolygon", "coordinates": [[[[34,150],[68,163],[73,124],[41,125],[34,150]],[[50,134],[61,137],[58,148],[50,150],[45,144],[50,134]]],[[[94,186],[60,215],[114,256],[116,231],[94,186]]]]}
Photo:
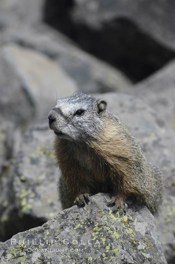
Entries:
{"type": "Polygon", "coordinates": [[[123,71],[136,83],[151,75],[175,52],[164,47],[126,17],[103,23],[99,29],[71,17],[72,0],[45,1],[43,20],[77,42],[82,49],[123,71]]]}

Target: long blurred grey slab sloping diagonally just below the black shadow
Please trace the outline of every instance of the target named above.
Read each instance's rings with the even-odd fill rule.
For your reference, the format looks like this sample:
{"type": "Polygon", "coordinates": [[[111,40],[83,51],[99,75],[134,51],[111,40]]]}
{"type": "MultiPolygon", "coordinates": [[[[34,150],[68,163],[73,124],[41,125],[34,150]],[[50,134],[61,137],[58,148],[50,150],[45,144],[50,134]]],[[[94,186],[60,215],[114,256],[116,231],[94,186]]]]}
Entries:
{"type": "Polygon", "coordinates": [[[47,25],[9,28],[1,36],[1,45],[12,41],[53,58],[76,81],[78,89],[86,93],[125,92],[131,84],[122,72],[82,51],[47,25]]]}

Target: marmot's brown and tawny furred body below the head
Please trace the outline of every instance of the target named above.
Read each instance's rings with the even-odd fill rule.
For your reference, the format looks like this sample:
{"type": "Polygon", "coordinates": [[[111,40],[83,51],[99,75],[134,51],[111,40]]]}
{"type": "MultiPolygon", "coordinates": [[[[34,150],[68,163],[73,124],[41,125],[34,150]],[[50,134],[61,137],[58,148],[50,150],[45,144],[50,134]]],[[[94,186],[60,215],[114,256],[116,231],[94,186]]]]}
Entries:
{"type": "Polygon", "coordinates": [[[83,193],[104,192],[111,193],[110,204],[116,203],[116,209],[125,211],[125,199],[131,197],[154,214],[162,201],[160,170],[147,162],[119,117],[104,111],[99,118],[103,130],[86,142],[55,138],[63,208],[71,207],[83,193]]]}

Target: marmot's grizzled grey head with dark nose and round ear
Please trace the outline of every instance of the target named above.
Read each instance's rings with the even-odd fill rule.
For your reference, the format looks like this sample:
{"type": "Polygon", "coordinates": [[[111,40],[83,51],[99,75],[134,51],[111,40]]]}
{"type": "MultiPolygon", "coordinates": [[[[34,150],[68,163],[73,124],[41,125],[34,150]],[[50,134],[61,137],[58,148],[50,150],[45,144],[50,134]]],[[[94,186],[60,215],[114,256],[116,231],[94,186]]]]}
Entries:
{"type": "Polygon", "coordinates": [[[106,101],[82,92],[61,98],[49,113],[49,127],[64,139],[96,138],[103,129],[106,105],[106,101]]]}

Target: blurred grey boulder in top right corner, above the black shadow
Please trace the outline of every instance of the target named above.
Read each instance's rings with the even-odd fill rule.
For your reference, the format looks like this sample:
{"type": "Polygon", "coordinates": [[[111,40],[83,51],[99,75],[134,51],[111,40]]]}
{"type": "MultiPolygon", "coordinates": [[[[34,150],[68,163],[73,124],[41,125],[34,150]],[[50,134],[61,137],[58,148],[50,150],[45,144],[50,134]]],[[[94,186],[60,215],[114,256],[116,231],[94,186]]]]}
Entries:
{"type": "Polygon", "coordinates": [[[174,1],[136,0],[133,5],[129,0],[75,0],[71,16],[79,23],[97,29],[103,28],[105,23],[114,19],[128,18],[137,23],[142,31],[174,50],[174,9],[174,1]]]}

